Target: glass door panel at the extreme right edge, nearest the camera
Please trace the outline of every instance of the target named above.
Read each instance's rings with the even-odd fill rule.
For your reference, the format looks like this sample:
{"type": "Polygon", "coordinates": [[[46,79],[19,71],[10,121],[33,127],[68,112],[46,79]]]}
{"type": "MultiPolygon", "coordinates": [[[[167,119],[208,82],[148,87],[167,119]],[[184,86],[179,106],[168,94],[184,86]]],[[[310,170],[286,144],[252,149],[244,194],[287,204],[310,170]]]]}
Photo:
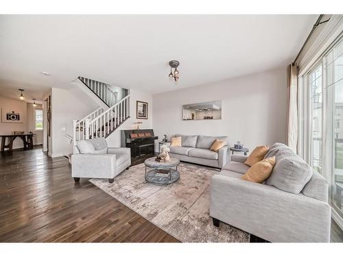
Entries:
{"type": "Polygon", "coordinates": [[[327,138],[327,167],[331,170],[331,204],[343,216],[343,41],[324,56],[326,77],[325,125],[327,138]]]}

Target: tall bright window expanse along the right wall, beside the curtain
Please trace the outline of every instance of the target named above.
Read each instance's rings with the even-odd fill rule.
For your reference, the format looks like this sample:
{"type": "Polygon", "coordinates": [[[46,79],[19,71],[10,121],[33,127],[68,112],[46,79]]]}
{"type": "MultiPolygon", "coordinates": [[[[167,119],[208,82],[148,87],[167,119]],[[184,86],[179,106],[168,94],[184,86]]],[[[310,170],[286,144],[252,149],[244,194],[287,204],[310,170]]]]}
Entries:
{"type": "Polygon", "coordinates": [[[300,152],[329,181],[329,203],[343,217],[343,38],[299,79],[305,100],[300,152]]]}

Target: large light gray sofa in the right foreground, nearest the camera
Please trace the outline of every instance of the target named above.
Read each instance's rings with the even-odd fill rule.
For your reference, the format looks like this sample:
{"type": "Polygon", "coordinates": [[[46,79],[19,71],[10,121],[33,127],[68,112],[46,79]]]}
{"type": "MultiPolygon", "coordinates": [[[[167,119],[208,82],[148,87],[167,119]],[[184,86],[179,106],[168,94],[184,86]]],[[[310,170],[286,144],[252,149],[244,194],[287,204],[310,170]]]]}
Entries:
{"type": "Polygon", "coordinates": [[[327,180],[316,171],[299,172],[307,164],[283,144],[274,144],[265,158],[272,156],[276,164],[263,184],[241,180],[249,169],[246,156],[232,156],[220,175],[212,177],[213,224],[224,221],[271,242],[329,242],[327,180]]]}

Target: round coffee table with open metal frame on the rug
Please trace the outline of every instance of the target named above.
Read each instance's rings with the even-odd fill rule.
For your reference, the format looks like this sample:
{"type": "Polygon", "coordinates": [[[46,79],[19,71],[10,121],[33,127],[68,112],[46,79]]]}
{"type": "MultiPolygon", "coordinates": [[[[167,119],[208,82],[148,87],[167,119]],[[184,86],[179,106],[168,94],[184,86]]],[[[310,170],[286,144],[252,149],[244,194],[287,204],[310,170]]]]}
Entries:
{"type": "Polygon", "coordinates": [[[166,185],[176,182],[180,178],[178,164],[180,160],[170,158],[165,162],[157,162],[156,157],[145,160],[145,182],[166,185]]]}

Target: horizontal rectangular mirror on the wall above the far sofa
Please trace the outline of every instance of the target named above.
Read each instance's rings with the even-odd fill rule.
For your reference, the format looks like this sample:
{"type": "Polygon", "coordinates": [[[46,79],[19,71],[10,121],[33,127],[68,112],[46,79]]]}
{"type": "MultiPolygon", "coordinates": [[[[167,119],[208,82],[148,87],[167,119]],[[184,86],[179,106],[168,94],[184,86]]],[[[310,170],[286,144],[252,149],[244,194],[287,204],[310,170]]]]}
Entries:
{"type": "Polygon", "coordinates": [[[222,101],[207,101],[182,106],[182,120],[199,121],[204,119],[222,119],[222,101]]]}

